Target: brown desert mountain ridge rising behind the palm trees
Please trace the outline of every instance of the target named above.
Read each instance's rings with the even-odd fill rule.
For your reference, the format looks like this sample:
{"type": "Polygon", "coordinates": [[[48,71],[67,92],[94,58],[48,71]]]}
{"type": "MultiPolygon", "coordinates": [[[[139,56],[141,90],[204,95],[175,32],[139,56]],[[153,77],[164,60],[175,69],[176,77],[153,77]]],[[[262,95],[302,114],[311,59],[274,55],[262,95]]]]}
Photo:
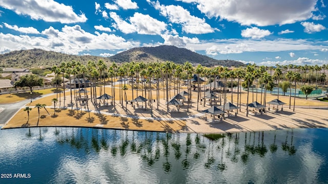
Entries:
{"type": "Polygon", "coordinates": [[[89,60],[98,61],[100,59],[107,64],[111,62],[123,63],[131,61],[173,61],[183,64],[189,61],[204,66],[245,66],[245,64],[234,60],[216,60],[188,49],[177,48],[172,45],[160,45],[158,47],[132,48],[111,57],[69,55],[42,49],[12,51],[0,55],[0,67],[52,67],[54,65],[60,65],[60,63],[64,61],[76,60],[80,61],[82,64],[86,64],[89,60]]]}

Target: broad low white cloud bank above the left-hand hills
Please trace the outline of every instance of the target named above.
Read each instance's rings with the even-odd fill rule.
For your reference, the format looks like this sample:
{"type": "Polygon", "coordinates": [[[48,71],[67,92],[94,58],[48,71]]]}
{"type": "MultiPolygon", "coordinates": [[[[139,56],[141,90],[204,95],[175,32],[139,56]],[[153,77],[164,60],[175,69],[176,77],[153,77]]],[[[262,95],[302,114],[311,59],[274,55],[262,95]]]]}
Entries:
{"type": "Polygon", "coordinates": [[[88,33],[80,26],[64,26],[61,30],[50,27],[42,31],[42,36],[12,35],[0,33],[0,51],[43,49],[78,55],[91,50],[126,50],[139,47],[137,41],[128,41],[114,34],[88,33]],[[3,46],[6,45],[6,46],[3,46]]]}

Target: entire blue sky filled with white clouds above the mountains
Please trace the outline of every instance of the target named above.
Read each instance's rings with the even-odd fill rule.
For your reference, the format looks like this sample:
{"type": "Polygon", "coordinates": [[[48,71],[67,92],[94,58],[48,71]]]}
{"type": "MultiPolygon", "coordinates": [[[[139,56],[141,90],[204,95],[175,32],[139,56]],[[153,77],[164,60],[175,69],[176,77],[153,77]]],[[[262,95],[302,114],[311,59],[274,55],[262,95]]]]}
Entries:
{"type": "Polygon", "coordinates": [[[167,44],[258,65],[328,64],[327,0],[0,0],[0,54],[167,44]]]}

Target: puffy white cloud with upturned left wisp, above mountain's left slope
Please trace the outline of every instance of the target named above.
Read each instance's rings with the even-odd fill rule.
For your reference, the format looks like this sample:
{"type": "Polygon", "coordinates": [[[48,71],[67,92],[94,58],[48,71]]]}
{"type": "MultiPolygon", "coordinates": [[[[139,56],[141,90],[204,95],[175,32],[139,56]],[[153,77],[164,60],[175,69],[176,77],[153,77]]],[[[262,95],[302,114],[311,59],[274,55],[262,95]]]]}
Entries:
{"type": "Polygon", "coordinates": [[[166,30],[167,26],[165,22],[141,13],[134,13],[129,18],[130,23],[122,20],[115,12],[111,12],[110,16],[115,21],[114,27],[126,34],[137,32],[138,34],[159,35],[166,30]]]}

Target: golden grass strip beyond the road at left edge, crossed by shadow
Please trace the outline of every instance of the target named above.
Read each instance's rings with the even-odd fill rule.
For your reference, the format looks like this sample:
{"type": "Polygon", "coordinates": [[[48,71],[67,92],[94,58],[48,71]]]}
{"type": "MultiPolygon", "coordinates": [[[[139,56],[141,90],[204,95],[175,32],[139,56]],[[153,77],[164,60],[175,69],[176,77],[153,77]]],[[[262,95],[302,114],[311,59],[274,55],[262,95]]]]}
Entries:
{"type": "MultiPolygon", "coordinates": [[[[55,93],[54,92],[55,90],[56,88],[33,90],[32,98],[55,93]]],[[[0,103],[15,103],[30,98],[31,98],[30,91],[26,91],[23,93],[15,93],[15,94],[4,94],[4,95],[0,95],[0,103]]]]}

